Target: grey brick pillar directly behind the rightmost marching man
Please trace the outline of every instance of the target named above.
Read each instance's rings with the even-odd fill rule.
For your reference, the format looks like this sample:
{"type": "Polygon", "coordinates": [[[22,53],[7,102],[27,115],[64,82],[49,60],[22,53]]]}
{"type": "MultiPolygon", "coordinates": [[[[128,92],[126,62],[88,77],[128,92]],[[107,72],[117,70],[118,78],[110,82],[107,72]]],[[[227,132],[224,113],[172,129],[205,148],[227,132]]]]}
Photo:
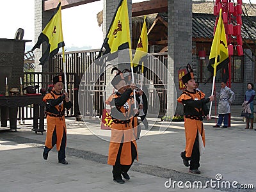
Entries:
{"type": "Polygon", "coordinates": [[[192,1],[191,0],[168,0],[168,70],[172,77],[168,77],[168,104],[167,113],[182,113],[181,105],[175,103],[179,97],[180,67],[192,61],[192,1]],[[175,84],[172,83],[172,80],[175,84]],[[175,95],[175,90],[177,95],[175,95]]]}

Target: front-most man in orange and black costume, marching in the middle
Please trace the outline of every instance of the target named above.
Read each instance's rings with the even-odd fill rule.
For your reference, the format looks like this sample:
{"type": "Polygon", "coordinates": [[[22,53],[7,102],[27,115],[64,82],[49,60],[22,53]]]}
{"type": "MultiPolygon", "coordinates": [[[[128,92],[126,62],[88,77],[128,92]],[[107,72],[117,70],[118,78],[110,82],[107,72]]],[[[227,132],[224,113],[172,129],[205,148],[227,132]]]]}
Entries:
{"type": "MultiPolygon", "coordinates": [[[[118,70],[113,68],[113,70],[118,70]]],[[[113,70],[111,73],[113,73],[113,70]]],[[[113,165],[113,180],[119,184],[124,184],[122,179],[130,179],[127,172],[131,168],[134,159],[138,161],[137,138],[137,111],[134,109],[134,99],[131,96],[134,85],[126,84],[123,74],[118,70],[118,74],[113,78],[111,84],[118,90],[113,93],[106,104],[111,106],[111,141],[109,143],[108,164],[113,165]]]]}

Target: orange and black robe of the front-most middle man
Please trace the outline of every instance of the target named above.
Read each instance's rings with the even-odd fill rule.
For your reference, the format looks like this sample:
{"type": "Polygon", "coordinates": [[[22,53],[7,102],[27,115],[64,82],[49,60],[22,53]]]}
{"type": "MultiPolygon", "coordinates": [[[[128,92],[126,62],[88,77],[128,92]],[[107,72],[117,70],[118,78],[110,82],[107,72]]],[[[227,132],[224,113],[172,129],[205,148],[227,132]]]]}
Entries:
{"type": "Polygon", "coordinates": [[[136,148],[136,159],[138,161],[137,150],[137,125],[138,119],[134,114],[134,99],[131,97],[131,89],[126,90],[125,93],[114,93],[106,104],[111,106],[111,117],[113,122],[111,123],[111,141],[109,143],[108,164],[115,165],[120,143],[122,143],[122,149],[120,154],[120,164],[131,165],[132,164],[132,148],[131,142],[136,148]]]}

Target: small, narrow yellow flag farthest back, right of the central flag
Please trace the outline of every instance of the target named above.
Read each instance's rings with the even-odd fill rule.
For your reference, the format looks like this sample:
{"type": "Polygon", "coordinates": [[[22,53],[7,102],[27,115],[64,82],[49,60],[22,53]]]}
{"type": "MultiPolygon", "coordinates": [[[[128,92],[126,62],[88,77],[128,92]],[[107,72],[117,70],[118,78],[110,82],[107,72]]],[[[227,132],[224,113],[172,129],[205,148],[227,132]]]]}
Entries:
{"type": "MultiPolygon", "coordinates": [[[[146,24],[146,16],[144,16],[144,23],[143,27],[141,29],[140,39],[136,48],[136,52],[134,54],[133,58],[133,67],[137,67],[138,64],[141,61],[141,58],[143,56],[146,56],[148,53],[148,30],[147,30],[147,24],[146,24]]],[[[141,73],[143,73],[144,65],[141,64],[141,73]]]]}

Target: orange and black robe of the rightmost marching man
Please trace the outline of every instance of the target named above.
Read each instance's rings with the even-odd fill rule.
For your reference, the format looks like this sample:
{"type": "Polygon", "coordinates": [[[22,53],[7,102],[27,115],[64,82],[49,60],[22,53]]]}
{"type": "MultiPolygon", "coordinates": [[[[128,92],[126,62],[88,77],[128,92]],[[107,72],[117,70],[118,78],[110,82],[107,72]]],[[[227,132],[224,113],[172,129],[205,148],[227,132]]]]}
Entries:
{"type": "Polygon", "coordinates": [[[198,90],[189,92],[185,90],[177,99],[184,106],[184,126],[186,135],[186,157],[191,157],[196,134],[201,134],[205,145],[205,133],[202,116],[209,114],[206,104],[209,98],[204,99],[205,94],[198,90]]]}

